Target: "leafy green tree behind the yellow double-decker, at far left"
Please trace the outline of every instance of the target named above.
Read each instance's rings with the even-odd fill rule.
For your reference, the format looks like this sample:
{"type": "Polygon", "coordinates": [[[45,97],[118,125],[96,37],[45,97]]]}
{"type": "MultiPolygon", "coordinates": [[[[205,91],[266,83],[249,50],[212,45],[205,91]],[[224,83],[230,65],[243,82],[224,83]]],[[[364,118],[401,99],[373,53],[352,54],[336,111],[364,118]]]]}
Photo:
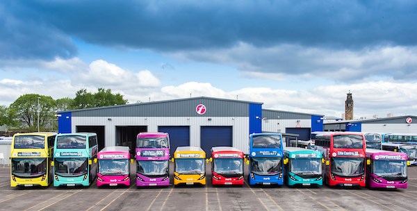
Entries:
{"type": "Polygon", "coordinates": [[[9,114],[22,127],[35,130],[38,127],[38,112],[39,126],[43,129],[45,124],[54,119],[55,110],[56,101],[51,96],[24,94],[10,105],[9,114]],[[38,98],[40,99],[38,100],[38,98]]]}

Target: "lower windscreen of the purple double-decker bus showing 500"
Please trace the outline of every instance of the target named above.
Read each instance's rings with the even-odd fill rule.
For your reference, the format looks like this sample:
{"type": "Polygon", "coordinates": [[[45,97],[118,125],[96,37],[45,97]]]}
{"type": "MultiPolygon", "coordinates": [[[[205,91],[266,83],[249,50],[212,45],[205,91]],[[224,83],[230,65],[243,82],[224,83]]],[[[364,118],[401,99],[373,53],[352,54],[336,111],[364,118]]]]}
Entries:
{"type": "Polygon", "coordinates": [[[168,174],[168,160],[138,160],[138,174],[144,176],[162,176],[168,174]]]}

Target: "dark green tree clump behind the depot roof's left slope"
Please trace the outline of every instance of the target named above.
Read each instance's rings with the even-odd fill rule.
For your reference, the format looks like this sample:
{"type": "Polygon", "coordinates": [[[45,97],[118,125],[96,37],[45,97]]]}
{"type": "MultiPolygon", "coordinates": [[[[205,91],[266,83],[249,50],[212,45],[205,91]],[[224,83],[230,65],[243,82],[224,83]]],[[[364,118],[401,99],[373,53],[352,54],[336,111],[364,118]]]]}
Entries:
{"type": "Polygon", "coordinates": [[[111,89],[104,90],[99,88],[97,93],[92,94],[85,89],[81,89],[75,94],[74,108],[95,108],[109,105],[124,105],[127,100],[123,99],[122,94],[112,94],[111,89]]]}

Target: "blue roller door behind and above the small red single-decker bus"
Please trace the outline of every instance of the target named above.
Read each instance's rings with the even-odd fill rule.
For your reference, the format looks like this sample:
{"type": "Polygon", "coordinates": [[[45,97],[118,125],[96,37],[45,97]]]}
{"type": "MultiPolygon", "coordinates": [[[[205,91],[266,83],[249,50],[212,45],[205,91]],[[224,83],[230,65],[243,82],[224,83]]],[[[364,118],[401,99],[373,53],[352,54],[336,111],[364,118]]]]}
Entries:
{"type": "Polygon", "coordinates": [[[211,147],[232,146],[233,135],[231,126],[202,126],[200,146],[210,158],[211,147]]]}

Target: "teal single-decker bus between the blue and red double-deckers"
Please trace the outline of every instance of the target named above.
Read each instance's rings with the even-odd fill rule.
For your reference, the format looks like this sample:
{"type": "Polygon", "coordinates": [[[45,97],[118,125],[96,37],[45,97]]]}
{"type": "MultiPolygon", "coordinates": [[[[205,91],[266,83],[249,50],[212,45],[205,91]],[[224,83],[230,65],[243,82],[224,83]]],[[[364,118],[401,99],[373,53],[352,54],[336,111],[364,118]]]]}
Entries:
{"type": "Polygon", "coordinates": [[[286,162],[284,180],[287,185],[323,185],[322,163],[324,159],[319,151],[285,147],[284,162],[286,162]]]}

